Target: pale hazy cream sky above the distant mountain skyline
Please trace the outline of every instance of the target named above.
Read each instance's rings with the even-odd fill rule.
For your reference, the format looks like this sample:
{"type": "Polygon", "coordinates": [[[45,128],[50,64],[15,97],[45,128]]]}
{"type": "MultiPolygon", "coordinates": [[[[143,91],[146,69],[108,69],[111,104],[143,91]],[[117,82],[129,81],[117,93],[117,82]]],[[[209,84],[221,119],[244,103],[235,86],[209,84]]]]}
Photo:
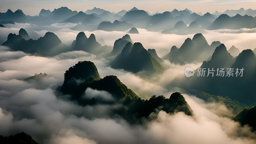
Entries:
{"type": "Polygon", "coordinates": [[[38,15],[41,9],[59,8],[67,6],[71,10],[86,11],[93,7],[118,12],[132,7],[143,9],[151,13],[172,11],[173,9],[190,9],[194,12],[224,12],[227,9],[255,9],[255,0],[0,0],[0,12],[8,9],[21,9],[25,14],[38,15]]]}

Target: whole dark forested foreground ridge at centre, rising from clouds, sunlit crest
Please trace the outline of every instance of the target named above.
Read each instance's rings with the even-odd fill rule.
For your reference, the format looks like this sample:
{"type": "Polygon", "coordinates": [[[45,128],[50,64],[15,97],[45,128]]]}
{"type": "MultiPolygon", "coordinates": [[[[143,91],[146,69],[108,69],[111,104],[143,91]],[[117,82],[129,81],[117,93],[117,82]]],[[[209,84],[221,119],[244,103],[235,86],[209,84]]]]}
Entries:
{"type": "Polygon", "coordinates": [[[180,92],[172,93],[170,98],[152,96],[149,100],[142,100],[116,76],[100,78],[97,68],[90,61],[78,62],[69,68],[59,90],[70,95],[59,94],[61,98],[76,101],[81,106],[114,106],[108,114],[111,117],[122,117],[131,124],[142,123],[152,112],[157,113],[160,110],[167,113],[182,111],[189,116],[193,115],[180,92]]]}

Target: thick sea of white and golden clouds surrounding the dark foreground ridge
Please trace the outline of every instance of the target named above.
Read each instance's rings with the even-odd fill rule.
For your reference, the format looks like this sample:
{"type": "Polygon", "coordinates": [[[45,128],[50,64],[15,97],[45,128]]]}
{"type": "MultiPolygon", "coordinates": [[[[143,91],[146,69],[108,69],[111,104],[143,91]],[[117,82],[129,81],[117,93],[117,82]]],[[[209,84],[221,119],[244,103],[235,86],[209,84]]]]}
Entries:
{"type": "MultiPolygon", "coordinates": [[[[0,28],[0,40],[4,42],[9,33],[16,33],[20,28],[36,32],[44,36],[45,32],[53,31],[63,43],[70,45],[75,40],[78,31],[70,30],[74,24],[53,24],[37,28],[29,24],[7,25],[0,28]]],[[[156,49],[160,57],[170,51],[172,45],[178,47],[188,37],[193,35],[174,35],[149,32],[139,29],[140,34],[130,34],[134,42],[141,42],[143,46],[156,49]]],[[[103,38],[107,45],[114,44],[126,32],[106,32],[96,30],[85,31],[86,36],[94,33],[97,39],[103,38]]],[[[254,48],[255,33],[221,33],[207,31],[203,34],[210,44],[220,40],[227,47],[237,46],[240,50],[254,48]]],[[[38,38],[32,37],[33,39],[38,38]]],[[[12,135],[18,132],[30,134],[39,143],[256,143],[256,133],[248,126],[241,126],[235,122],[232,112],[223,103],[205,103],[184,90],[173,87],[166,88],[176,76],[184,74],[187,66],[200,67],[201,63],[186,65],[172,64],[164,60],[162,65],[165,72],[146,80],[131,72],[113,69],[108,66],[109,61],[84,51],[61,53],[54,57],[40,57],[24,52],[12,52],[8,47],[0,46],[0,134],[12,135]],[[110,117],[111,110],[119,105],[97,104],[93,106],[79,106],[76,102],[63,100],[55,95],[55,90],[63,84],[65,71],[78,61],[90,60],[96,65],[100,77],[116,75],[122,83],[131,88],[143,99],[152,95],[164,95],[169,98],[173,92],[180,91],[194,111],[194,116],[187,116],[183,112],[167,114],[164,111],[152,113],[156,116],[153,121],[145,121],[144,125],[131,125],[121,118],[110,117]],[[37,81],[23,81],[23,79],[39,73],[47,76],[37,81]]],[[[65,96],[63,96],[65,97],[65,96]]],[[[112,100],[106,91],[88,88],[84,97],[98,97],[112,100]]]]}

